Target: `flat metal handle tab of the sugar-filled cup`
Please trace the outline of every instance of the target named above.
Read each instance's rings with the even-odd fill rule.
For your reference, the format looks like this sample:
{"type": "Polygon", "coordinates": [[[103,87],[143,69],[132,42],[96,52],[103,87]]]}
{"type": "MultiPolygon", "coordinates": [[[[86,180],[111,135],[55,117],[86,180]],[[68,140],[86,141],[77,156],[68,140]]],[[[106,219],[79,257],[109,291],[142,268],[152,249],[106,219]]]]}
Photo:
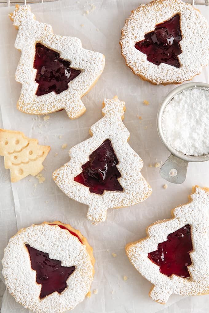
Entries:
{"type": "Polygon", "coordinates": [[[171,154],[160,167],[160,175],[168,182],[182,184],[186,178],[188,162],[171,154]]]}

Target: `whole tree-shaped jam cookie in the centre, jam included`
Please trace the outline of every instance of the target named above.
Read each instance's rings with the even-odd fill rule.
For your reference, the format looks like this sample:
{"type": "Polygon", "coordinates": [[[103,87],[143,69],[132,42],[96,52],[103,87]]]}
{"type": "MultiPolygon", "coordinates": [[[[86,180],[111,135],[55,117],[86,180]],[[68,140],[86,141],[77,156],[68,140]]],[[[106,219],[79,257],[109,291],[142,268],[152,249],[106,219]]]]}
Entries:
{"type": "Polygon", "coordinates": [[[87,218],[94,224],[105,221],[108,208],[142,202],[152,192],[140,172],[143,161],[127,142],[125,102],[115,96],[103,106],[104,117],[91,126],[92,137],[71,148],[71,160],[53,173],[68,197],[88,206],[87,218]]]}

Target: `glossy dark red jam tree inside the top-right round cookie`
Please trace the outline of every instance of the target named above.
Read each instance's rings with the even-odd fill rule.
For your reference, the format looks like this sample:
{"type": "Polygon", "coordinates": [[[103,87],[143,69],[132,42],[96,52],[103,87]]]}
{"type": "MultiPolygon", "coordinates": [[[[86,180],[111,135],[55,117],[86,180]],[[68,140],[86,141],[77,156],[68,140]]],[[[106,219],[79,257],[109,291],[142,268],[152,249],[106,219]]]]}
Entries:
{"type": "Polygon", "coordinates": [[[180,67],[178,55],[181,54],[179,42],[182,39],[180,15],[155,26],[154,31],[147,33],[144,40],[135,44],[135,48],[147,55],[149,62],[180,67]]]}

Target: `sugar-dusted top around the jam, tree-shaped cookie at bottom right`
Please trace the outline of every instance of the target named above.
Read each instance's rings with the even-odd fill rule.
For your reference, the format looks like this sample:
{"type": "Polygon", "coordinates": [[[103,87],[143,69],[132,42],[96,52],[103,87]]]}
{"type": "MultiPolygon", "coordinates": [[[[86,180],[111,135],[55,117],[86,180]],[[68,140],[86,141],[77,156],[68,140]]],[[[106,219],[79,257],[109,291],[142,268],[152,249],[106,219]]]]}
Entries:
{"type": "Polygon", "coordinates": [[[191,202],[173,210],[174,218],[158,221],[147,229],[147,237],[126,247],[128,258],[133,266],[154,286],[150,290],[151,299],[165,303],[171,294],[200,295],[208,293],[209,286],[209,189],[196,186],[191,202]],[[177,229],[189,224],[193,251],[192,264],[188,266],[190,278],[176,275],[170,277],[159,272],[159,266],[148,259],[148,253],[155,251],[159,243],[177,229]]]}

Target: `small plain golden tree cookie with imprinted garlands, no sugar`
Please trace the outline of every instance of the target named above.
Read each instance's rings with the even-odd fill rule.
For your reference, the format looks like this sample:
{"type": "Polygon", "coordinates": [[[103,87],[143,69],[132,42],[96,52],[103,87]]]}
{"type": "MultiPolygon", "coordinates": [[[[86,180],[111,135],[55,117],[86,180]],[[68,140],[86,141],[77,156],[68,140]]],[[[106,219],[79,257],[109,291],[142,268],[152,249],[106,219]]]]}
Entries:
{"type": "Polygon", "coordinates": [[[38,145],[37,139],[25,137],[21,131],[0,129],[0,155],[5,168],[10,169],[11,182],[41,172],[49,151],[50,146],[38,145]]]}

